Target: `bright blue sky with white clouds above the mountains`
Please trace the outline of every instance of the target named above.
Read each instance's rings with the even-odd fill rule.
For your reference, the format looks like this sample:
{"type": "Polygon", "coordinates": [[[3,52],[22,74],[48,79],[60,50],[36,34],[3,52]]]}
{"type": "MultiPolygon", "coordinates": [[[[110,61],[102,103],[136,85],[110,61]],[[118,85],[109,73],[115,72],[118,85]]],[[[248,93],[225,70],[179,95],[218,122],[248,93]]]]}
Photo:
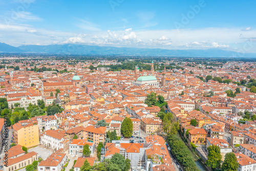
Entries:
{"type": "Polygon", "coordinates": [[[256,1],[0,1],[0,41],[256,52],[256,1]]]}

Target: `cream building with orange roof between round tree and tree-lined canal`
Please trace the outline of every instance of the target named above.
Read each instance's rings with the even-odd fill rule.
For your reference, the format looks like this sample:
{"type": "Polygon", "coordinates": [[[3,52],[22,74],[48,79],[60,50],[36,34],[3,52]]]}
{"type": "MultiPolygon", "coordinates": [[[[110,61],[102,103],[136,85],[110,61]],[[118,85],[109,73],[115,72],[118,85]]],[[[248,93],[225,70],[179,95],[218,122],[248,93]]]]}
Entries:
{"type": "Polygon", "coordinates": [[[140,125],[146,134],[165,134],[162,121],[159,118],[142,118],[140,125]]]}

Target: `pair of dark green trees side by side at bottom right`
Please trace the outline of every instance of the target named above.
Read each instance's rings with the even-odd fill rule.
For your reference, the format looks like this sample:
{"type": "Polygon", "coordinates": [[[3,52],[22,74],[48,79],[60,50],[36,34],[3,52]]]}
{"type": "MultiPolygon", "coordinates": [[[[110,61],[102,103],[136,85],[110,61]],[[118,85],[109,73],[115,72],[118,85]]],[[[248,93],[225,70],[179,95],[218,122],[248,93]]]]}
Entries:
{"type": "Polygon", "coordinates": [[[234,153],[230,152],[225,155],[223,164],[221,165],[221,149],[217,145],[210,145],[207,148],[208,159],[205,164],[213,169],[221,168],[221,170],[237,171],[239,163],[237,162],[237,157],[234,153]]]}

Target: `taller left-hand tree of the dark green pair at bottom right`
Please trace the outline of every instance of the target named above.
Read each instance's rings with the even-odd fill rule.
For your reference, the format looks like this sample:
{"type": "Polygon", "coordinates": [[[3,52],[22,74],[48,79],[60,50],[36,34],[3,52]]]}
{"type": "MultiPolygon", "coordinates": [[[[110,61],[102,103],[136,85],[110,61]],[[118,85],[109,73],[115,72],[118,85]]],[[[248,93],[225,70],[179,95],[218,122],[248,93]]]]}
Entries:
{"type": "Polygon", "coordinates": [[[208,159],[205,162],[205,164],[211,168],[220,168],[221,158],[222,158],[221,148],[216,145],[210,145],[208,146],[207,150],[208,150],[208,159]]]}

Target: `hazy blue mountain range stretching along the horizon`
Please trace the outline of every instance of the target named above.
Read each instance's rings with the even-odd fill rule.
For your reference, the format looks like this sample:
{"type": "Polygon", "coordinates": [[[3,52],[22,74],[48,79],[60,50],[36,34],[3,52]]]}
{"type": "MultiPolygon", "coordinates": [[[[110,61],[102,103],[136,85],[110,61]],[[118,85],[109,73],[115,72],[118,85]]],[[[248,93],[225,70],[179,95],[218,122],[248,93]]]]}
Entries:
{"type": "Polygon", "coordinates": [[[167,50],[148,48],[117,48],[91,45],[22,45],[13,47],[0,43],[0,52],[4,53],[49,53],[67,55],[123,55],[123,56],[164,56],[164,57],[256,57],[256,53],[240,54],[222,49],[167,50]]]}

